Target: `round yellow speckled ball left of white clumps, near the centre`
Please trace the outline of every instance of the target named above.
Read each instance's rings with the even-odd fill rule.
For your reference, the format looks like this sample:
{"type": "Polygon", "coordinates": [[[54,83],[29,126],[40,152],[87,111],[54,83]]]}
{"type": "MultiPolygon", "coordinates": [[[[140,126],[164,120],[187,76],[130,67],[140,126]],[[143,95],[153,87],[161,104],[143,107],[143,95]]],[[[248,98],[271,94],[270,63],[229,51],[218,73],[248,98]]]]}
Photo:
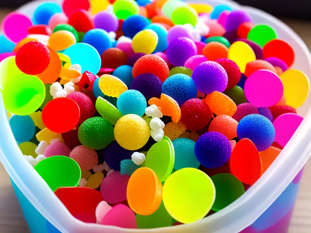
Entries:
{"type": "Polygon", "coordinates": [[[118,144],[127,150],[138,150],[149,140],[147,122],[135,114],[121,117],[114,126],[114,137],[118,144]]]}

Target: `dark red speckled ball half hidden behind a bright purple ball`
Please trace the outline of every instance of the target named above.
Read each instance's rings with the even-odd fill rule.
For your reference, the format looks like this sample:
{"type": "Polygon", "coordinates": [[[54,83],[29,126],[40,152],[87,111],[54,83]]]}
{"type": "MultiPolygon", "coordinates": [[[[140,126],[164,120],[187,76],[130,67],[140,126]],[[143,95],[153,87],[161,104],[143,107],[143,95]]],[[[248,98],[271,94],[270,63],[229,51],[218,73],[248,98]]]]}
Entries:
{"type": "Polygon", "coordinates": [[[228,85],[225,91],[234,88],[234,86],[238,84],[241,78],[241,71],[239,66],[234,61],[231,61],[227,58],[220,58],[214,62],[219,63],[227,72],[228,85]]]}

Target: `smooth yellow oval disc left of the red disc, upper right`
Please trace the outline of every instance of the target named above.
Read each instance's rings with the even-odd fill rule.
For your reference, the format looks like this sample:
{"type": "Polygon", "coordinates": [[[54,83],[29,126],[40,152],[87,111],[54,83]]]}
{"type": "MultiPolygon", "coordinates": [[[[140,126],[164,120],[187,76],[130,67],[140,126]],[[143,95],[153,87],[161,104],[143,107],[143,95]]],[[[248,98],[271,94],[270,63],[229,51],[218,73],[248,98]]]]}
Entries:
{"type": "Polygon", "coordinates": [[[245,72],[248,62],[256,60],[253,49],[243,41],[237,41],[231,44],[228,50],[228,59],[234,61],[240,68],[241,72],[245,72]]]}

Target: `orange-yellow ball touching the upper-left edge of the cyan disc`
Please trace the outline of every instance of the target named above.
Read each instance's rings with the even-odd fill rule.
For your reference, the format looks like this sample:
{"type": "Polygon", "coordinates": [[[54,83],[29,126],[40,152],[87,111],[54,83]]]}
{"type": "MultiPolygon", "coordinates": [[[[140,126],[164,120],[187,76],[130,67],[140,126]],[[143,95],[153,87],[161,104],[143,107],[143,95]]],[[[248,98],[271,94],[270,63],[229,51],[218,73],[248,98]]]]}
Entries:
{"type": "Polygon", "coordinates": [[[55,51],[62,51],[75,43],[76,37],[67,30],[56,31],[49,38],[49,46],[55,51]]]}

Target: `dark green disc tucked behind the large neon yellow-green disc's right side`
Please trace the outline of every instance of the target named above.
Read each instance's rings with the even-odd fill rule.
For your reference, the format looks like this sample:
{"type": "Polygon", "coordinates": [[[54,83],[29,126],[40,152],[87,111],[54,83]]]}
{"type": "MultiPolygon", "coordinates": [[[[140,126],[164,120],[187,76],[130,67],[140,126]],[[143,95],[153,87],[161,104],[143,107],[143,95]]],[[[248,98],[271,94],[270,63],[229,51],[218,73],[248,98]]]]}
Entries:
{"type": "Polygon", "coordinates": [[[216,189],[216,199],[212,210],[219,211],[230,205],[245,193],[244,186],[235,176],[220,173],[211,177],[216,189]]]}

